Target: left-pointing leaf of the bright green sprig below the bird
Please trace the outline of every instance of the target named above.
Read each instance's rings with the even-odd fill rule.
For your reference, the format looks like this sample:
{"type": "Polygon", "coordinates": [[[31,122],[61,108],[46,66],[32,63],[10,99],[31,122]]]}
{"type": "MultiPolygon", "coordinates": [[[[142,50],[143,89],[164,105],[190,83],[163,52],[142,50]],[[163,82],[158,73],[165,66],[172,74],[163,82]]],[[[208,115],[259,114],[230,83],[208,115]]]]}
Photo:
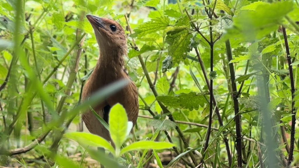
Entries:
{"type": "Polygon", "coordinates": [[[109,150],[111,153],[115,153],[113,146],[104,138],[87,132],[67,132],[64,134],[66,138],[75,140],[81,146],[95,146],[102,147],[109,150]]]}

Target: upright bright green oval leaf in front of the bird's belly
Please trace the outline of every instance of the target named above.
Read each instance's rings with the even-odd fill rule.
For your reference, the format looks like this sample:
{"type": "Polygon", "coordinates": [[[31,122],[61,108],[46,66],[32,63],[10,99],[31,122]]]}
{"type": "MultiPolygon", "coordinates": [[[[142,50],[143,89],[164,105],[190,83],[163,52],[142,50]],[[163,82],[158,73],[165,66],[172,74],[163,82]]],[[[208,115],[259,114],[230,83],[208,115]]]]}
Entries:
{"type": "Polygon", "coordinates": [[[128,117],[126,110],[121,104],[116,104],[111,108],[109,113],[110,135],[115,147],[120,149],[120,146],[126,140],[126,132],[128,128],[128,117]]]}

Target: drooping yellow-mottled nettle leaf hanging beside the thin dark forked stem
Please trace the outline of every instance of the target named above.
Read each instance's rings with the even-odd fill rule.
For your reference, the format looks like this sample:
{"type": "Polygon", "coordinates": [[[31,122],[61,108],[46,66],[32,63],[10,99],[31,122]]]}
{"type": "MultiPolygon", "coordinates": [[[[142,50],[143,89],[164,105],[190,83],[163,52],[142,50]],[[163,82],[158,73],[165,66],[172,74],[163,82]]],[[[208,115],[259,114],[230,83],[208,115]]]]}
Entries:
{"type": "Polygon", "coordinates": [[[184,16],[178,20],[174,30],[167,32],[165,42],[169,44],[168,54],[172,56],[173,63],[179,63],[190,52],[191,38],[193,36],[189,33],[186,25],[190,25],[189,19],[187,16],[184,16]]]}

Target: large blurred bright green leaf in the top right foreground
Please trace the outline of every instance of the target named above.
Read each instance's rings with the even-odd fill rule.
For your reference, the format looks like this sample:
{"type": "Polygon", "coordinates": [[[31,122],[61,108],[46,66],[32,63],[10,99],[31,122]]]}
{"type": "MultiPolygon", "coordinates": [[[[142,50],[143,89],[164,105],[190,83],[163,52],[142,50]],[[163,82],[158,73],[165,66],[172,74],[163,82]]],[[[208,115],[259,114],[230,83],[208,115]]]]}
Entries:
{"type": "Polygon", "coordinates": [[[234,26],[227,29],[226,38],[238,37],[251,41],[261,39],[277,30],[283,18],[293,10],[292,1],[257,5],[255,10],[242,10],[234,18],[234,26]]]}

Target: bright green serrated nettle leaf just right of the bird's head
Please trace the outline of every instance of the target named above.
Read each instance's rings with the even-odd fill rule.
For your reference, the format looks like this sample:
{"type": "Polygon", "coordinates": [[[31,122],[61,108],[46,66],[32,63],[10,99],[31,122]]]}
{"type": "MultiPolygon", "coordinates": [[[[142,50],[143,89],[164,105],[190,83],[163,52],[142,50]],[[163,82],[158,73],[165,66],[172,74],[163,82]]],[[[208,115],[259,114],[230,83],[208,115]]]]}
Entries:
{"type": "Polygon", "coordinates": [[[142,37],[150,33],[156,33],[159,30],[164,30],[170,24],[170,20],[167,17],[160,17],[152,19],[149,22],[142,23],[134,29],[135,33],[132,37],[142,37]]]}

